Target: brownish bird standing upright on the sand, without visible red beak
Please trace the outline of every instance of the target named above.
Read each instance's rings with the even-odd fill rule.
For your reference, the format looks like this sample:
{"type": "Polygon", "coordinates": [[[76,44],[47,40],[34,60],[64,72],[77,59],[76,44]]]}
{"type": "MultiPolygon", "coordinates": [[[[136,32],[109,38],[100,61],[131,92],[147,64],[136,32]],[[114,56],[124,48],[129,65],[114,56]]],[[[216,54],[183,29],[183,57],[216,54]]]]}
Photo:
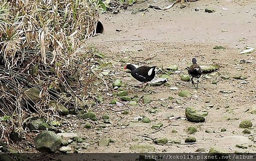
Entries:
{"type": "MultiPolygon", "coordinates": [[[[191,76],[192,85],[195,87],[195,84],[193,82],[193,78],[197,78],[198,79],[197,82],[199,83],[199,78],[202,75],[203,71],[202,71],[201,67],[196,63],[195,58],[192,59],[192,63],[193,64],[188,69],[188,73],[191,76]]],[[[197,83],[196,89],[198,89],[198,83],[197,83]]]]}

